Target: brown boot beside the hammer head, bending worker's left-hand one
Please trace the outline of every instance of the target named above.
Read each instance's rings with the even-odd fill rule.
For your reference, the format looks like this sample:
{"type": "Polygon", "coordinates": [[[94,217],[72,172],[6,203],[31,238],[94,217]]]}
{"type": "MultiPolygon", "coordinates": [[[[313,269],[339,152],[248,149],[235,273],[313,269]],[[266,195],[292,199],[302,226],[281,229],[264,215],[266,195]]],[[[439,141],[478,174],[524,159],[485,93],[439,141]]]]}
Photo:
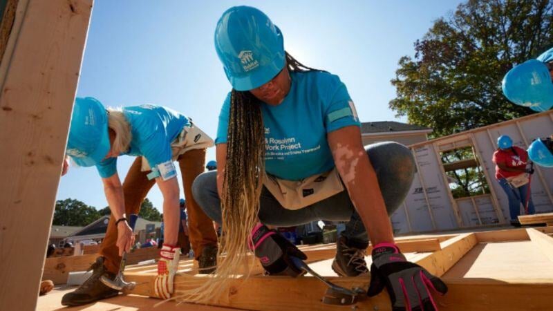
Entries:
{"type": "Polygon", "coordinates": [[[108,272],[104,267],[104,257],[96,258],[96,262],[87,271],[90,270],[93,272],[88,280],[84,281],[75,291],[64,294],[62,305],[84,305],[119,294],[117,290],[107,287],[100,281],[100,277],[104,274],[109,279],[115,279],[115,274],[108,272]]]}

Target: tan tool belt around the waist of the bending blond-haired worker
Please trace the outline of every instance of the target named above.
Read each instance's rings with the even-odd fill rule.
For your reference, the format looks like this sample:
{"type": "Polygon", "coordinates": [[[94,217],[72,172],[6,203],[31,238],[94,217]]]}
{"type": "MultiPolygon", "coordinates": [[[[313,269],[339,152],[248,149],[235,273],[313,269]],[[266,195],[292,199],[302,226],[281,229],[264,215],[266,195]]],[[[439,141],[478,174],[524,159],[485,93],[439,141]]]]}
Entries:
{"type": "MultiPolygon", "coordinates": [[[[187,151],[194,149],[207,149],[215,145],[212,138],[206,133],[200,130],[189,119],[190,125],[186,125],[182,128],[182,131],[178,134],[177,138],[171,142],[171,160],[176,161],[178,157],[187,151]]],[[[146,158],[142,157],[141,171],[151,171],[150,165],[146,158]]]]}

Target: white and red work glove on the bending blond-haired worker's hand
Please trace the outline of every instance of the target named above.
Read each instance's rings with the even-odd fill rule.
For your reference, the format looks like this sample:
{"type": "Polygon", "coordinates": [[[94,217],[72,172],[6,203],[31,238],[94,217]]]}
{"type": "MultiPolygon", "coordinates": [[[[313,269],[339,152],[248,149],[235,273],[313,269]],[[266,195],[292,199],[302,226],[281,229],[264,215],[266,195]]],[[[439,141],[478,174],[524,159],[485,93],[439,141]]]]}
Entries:
{"type": "Polygon", "coordinates": [[[160,250],[160,260],[158,261],[158,276],[154,282],[156,296],[161,299],[171,298],[174,291],[173,281],[178,270],[178,259],[180,248],[164,244],[160,250]]]}

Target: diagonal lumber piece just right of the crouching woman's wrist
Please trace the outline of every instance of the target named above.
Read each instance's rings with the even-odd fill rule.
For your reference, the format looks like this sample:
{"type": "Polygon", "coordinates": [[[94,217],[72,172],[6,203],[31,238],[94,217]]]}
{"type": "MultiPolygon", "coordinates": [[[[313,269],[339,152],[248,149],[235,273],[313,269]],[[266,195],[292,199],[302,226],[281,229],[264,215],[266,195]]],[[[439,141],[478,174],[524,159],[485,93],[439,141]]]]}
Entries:
{"type": "Polygon", "coordinates": [[[425,267],[435,276],[442,276],[478,243],[474,233],[459,234],[441,243],[442,249],[421,256],[415,263],[425,267]]]}

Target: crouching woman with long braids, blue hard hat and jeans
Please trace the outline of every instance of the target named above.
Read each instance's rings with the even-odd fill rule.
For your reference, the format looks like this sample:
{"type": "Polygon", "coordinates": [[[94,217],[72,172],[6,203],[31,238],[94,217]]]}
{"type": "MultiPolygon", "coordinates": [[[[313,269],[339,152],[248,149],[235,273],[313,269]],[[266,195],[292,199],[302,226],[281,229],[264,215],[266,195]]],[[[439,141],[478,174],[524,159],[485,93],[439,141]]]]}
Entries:
{"type": "Polygon", "coordinates": [[[427,285],[447,288],[406,261],[388,219],[411,187],[415,164],[409,149],[384,142],[365,150],[344,83],[285,53],[283,34],[263,12],[245,6],[224,12],[215,46],[232,91],[219,115],[218,170],[198,176],[193,191],[205,212],[223,223],[221,252],[227,256],[217,274],[222,278],[240,265],[236,255],[251,237],[266,272],[297,276],[301,272],[290,257],[306,255],[267,225],[348,220],[335,272],[368,277],[370,236],[375,250],[369,295],[388,285],[394,310],[433,310],[427,285]],[[400,279],[411,281],[403,287],[400,279]]]}

